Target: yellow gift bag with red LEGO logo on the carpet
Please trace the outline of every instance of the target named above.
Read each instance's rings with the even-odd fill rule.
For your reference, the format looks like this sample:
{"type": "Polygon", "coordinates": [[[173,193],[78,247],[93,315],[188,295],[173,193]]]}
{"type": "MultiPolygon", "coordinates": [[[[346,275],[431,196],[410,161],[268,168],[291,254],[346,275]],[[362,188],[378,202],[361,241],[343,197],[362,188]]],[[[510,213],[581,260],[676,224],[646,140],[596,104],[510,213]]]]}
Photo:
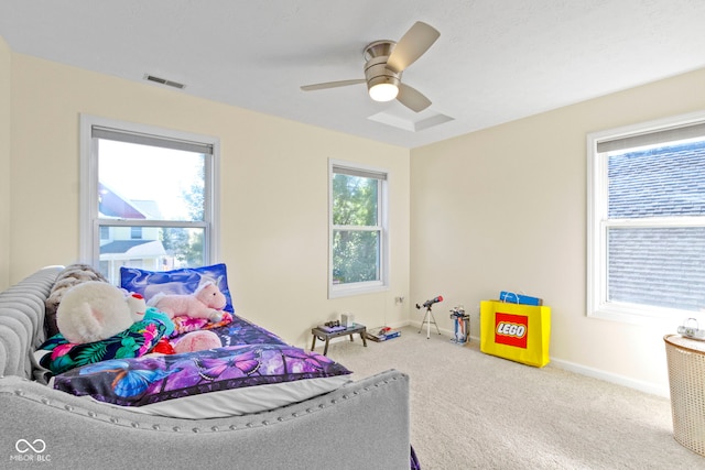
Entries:
{"type": "Polygon", "coordinates": [[[528,365],[549,363],[551,307],[480,302],[480,351],[528,365]]]}

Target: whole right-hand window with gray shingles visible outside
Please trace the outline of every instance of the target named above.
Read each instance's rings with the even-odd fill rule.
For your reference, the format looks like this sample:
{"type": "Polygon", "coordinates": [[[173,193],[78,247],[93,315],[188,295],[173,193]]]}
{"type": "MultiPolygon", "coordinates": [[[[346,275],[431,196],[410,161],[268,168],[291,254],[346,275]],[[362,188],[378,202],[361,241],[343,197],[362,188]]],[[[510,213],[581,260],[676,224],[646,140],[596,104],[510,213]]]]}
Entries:
{"type": "Polygon", "coordinates": [[[588,315],[705,308],[705,113],[588,135],[588,315]]]}

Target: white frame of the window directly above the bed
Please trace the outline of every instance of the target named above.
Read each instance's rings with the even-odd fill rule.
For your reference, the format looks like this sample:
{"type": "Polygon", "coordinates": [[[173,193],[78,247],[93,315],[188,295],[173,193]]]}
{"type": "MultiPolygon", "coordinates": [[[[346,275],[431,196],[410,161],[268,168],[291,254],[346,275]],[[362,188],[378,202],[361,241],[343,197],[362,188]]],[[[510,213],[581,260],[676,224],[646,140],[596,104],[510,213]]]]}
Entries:
{"type": "Polygon", "coordinates": [[[91,114],[80,114],[80,175],[79,175],[79,259],[95,267],[100,263],[100,230],[101,227],[171,227],[171,228],[202,228],[204,229],[204,265],[213,264],[220,253],[220,140],[212,135],[196,134],[134,122],[119,121],[91,114]],[[98,159],[97,139],[93,136],[93,129],[106,128],[126,134],[153,136],[165,141],[193,142],[209,145],[210,155],[205,155],[204,177],[204,220],[129,220],[101,219],[98,212],[98,159]],[[108,223],[105,223],[108,222],[108,223]]]}

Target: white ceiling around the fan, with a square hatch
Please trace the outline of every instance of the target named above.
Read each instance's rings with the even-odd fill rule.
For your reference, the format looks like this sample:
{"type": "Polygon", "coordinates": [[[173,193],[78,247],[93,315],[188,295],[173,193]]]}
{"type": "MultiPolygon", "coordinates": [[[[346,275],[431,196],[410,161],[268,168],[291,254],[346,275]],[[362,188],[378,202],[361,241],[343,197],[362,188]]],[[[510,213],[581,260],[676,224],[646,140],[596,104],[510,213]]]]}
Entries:
{"type": "Polygon", "coordinates": [[[705,67],[705,1],[0,0],[0,36],[15,53],[416,147],[705,67]],[[365,85],[300,89],[364,78],[365,46],[415,21],[441,32],[403,75],[426,110],[373,102],[365,85]]]}

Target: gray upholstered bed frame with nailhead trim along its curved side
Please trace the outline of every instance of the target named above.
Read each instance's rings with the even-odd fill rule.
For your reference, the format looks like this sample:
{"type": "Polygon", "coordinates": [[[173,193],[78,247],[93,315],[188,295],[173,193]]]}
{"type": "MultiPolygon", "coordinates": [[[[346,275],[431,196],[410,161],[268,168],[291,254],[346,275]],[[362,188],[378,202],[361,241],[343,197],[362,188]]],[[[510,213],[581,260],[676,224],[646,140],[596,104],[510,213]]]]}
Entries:
{"type": "Polygon", "coordinates": [[[0,293],[0,468],[409,468],[409,378],[397,371],[271,412],[199,420],[137,414],[37,382],[33,351],[61,269],[0,293]]]}

